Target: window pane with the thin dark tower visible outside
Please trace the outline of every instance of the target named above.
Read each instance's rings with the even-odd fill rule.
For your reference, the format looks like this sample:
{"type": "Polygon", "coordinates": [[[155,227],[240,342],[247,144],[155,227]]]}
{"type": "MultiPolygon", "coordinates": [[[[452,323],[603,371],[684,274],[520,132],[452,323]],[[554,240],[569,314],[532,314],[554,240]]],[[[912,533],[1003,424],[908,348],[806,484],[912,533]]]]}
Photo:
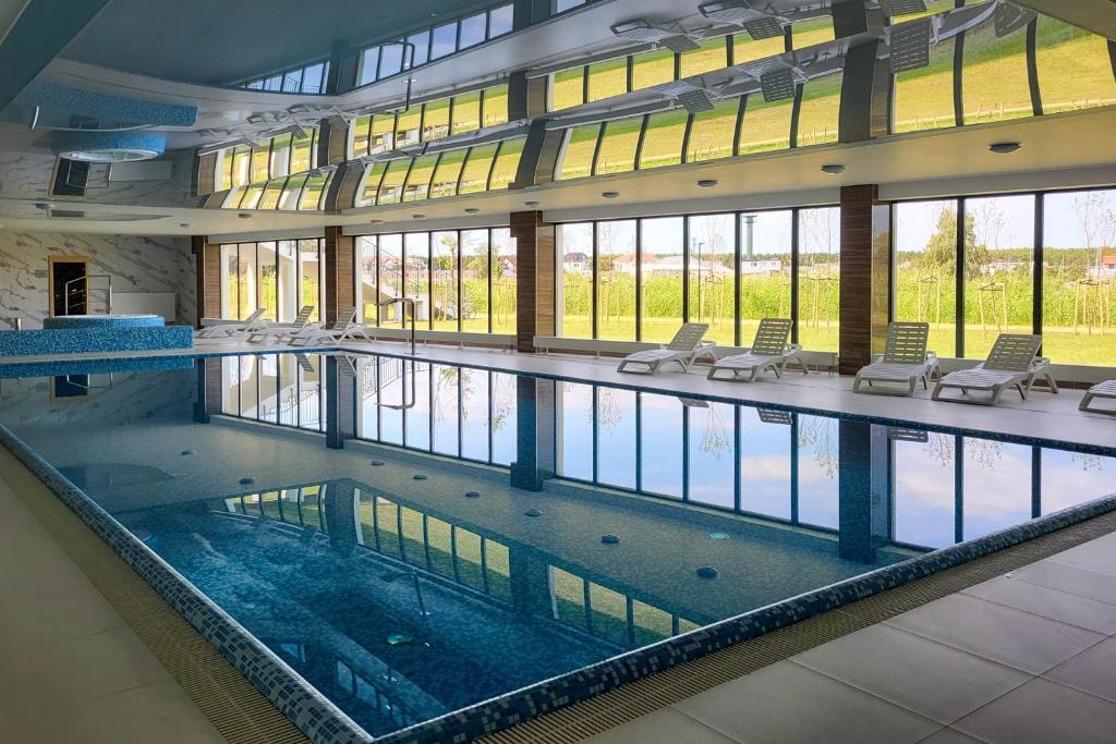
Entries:
{"type": "Polygon", "coordinates": [[[790,318],[790,210],[740,215],[740,344],[763,318],[790,318]]]}

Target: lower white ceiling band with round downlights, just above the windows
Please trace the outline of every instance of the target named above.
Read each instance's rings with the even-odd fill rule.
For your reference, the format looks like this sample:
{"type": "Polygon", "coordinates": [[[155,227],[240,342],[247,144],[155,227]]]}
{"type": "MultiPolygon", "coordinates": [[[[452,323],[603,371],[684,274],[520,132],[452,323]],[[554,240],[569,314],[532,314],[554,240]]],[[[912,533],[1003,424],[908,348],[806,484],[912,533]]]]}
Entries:
{"type": "MultiPolygon", "coordinates": [[[[961,129],[888,137],[856,145],[828,145],[769,155],[713,161],[641,173],[533,186],[522,191],[473,194],[410,204],[346,210],[343,214],[251,212],[242,220],[227,210],[81,205],[89,212],[160,214],[144,222],[48,220],[33,204],[42,200],[0,200],[0,224],[10,231],[90,232],[125,234],[237,234],[301,231],[320,234],[325,225],[387,232],[419,225],[468,226],[506,223],[509,212],[541,209],[547,219],[567,221],[589,216],[650,214],[719,209],[833,202],[841,185],[881,184],[884,197],[935,196],[952,193],[1021,191],[1116,184],[1116,107],[1056,114],[961,129]],[[993,142],[1018,141],[1011,155],[988,151],[993,142]],[[845,173],[821,173],[827,163],[840,163],[845,173]],[[696,182],[714,178],[713,189],[696,182]],[[604,200],[602,192],[619,197],[604,200]],[[525,206],[535,200],[538,207],[525,206]],[[465,207],[480,210],[465,215],[465,207]],[[424,214],[424,220],[412,215],[424,214]],[[373,228],[369,220],[384,220],[373,228]],[[181,228],[187,223],[190,228],[181,228]]],[[[65,209],[80,202],[54,200],[65,209]]]]}

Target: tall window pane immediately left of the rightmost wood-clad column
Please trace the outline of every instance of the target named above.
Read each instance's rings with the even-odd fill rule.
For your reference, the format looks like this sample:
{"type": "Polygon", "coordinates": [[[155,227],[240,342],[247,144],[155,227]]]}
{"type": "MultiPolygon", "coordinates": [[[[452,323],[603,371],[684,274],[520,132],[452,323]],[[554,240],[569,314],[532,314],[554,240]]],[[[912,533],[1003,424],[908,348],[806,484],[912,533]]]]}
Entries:
{"type": "Polygon", "coordinates": [[[837,350],[840,210],[799,210],[798,339],[807,349],[837,350]]]}

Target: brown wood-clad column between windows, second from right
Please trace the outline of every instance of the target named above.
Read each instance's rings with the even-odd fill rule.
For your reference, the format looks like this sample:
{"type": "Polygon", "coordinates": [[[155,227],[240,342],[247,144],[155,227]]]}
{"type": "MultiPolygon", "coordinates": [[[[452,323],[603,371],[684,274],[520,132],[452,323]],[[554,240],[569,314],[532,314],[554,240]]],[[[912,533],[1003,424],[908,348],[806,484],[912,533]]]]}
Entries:
{"type": "Polygon", "coordinates": [[[516,349],[535,351],[536,336],[555,335],[555,226],[541,212],[512,212],[516,241],[516,349]]]}

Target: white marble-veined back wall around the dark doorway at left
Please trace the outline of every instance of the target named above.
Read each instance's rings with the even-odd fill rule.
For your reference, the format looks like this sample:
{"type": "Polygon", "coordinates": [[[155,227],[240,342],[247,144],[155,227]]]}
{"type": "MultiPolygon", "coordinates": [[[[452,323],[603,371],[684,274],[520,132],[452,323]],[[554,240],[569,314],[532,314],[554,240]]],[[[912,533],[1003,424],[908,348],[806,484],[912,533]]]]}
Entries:
{"type": "MultiPolygon", "coordinates": [[[[0,318],[22,318],[27,329],[42,327],[50,255],[87,258],[90,274],[113,278],[114,292],[175,292],[177,322],[191,323],[196,317],[189,238],[0,231],[0,318]]],[[[99,302],[95,307],[99,311],[99,302]]],[[[0,323],[0,330],[6,329],[0,323]]]]}

